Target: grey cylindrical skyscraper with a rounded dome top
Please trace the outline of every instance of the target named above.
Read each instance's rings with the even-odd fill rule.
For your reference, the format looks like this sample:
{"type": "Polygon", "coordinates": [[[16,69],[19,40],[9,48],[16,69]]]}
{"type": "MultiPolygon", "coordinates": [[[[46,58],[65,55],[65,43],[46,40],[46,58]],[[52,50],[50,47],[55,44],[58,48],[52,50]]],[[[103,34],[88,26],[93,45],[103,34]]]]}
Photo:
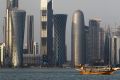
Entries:
{"type": "Polygon", "coordinates": [[[85,64],[85,25],[83,12],[77,10],[72,17],[71,58],[72,65],[85,64]]]}

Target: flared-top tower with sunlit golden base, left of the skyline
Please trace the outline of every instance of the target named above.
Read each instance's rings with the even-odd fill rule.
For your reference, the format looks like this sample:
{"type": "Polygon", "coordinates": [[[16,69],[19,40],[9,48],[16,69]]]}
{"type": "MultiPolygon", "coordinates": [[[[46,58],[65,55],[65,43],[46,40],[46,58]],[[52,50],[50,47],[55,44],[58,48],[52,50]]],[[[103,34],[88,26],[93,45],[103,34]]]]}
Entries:
{"type": "Polygon", "coordinates": [[[19,67],[23,62],[23,43],[26,12],[14,9],[12,14],[12,65],[19,67]]]}

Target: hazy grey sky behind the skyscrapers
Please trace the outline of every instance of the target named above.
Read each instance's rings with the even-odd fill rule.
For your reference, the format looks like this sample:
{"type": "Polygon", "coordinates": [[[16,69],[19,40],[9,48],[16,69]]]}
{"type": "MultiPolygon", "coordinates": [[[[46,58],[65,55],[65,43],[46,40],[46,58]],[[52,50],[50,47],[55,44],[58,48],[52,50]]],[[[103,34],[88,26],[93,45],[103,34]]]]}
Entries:
{"type": "MultiPolygon", "coordinates": [[[[6,0],[0,0],[0,37],[2,37],[3,17],[5,16],[6,0]]],[[[19,8],[27,11],[27,14],[35,15],[35,41],[40,41],[40,0],[19,0],[19,8]]],[[[114,26],[120,23],[120,0],[53,0],[54,13],[68,14],[66,43],[68,46],[68,59],[70,59],[70,34],[71,17],[75,10],[80,9],[85,16],[85,23],[94,16],[102,19],[102,27],[105,24],[114,26]]],[[[2,38],[0,38],[2,41],[2,38]]]]}

